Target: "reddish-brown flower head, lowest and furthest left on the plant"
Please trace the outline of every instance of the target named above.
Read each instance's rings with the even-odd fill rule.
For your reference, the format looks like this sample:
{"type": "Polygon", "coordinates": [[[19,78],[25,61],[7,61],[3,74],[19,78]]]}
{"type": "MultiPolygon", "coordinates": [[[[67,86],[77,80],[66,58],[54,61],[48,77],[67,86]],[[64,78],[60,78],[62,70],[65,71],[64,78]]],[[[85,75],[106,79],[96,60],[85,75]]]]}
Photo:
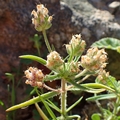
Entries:
{"type": "Polygon", "coordinates": [[[30,84],[31,86],[42,87],[44,74],[41,70],[33,67],[29,67],[28,70],[25,71],[26,75],[26,84],[30,84]]]}

